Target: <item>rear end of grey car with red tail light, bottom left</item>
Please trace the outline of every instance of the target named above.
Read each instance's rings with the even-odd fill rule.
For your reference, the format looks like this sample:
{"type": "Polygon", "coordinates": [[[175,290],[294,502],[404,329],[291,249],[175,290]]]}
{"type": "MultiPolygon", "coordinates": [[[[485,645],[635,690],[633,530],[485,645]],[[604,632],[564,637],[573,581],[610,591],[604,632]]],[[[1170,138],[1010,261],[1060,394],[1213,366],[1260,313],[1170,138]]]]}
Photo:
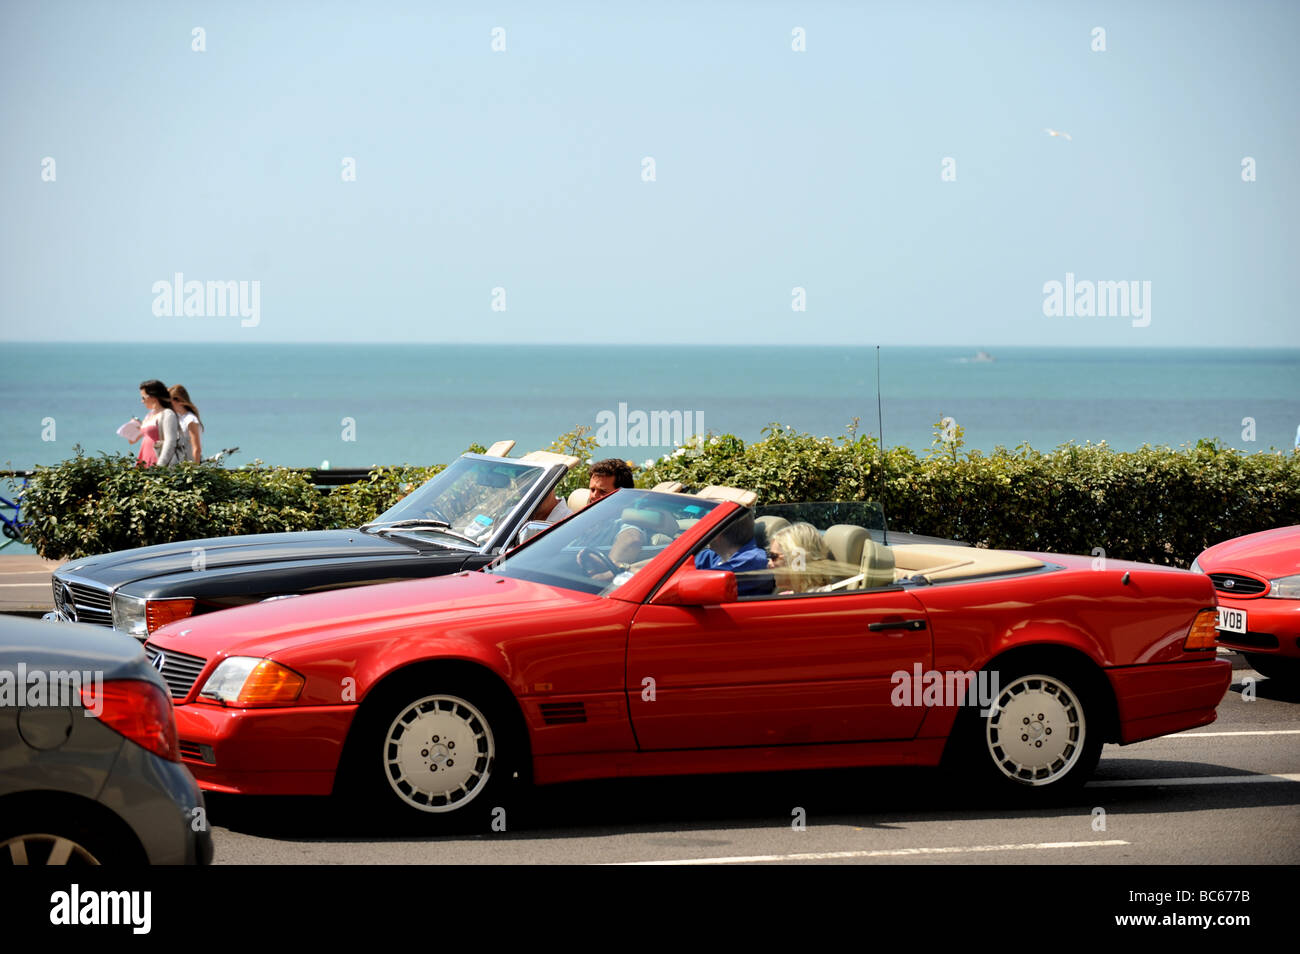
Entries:
{"type": "Polygon", "coordinates": [[[140,643],[0,616],[0,867],[207,864],[203,795],[140,643]]]}

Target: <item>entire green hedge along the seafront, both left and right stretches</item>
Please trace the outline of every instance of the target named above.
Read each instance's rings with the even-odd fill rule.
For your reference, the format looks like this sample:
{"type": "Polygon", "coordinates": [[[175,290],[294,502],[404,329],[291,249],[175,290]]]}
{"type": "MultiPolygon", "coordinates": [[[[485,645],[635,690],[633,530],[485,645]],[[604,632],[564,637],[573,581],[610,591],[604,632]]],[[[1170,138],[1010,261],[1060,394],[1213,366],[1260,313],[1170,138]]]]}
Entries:
{"type": "MultiPolygon", "coordinates": [[[[884,458],[872,438],[828,438],[772,425],[760,441],[698,438],[637,473],[638,486],[750,487],[762,503],[881,500],[896,530],[976,546],[1093,554],[1186,567],[1222,539],[1300,524],[1300,454],[1195,447],[1020,446],[984,455],[936,439],[923,456],[884,458]]],[[[603,456],[577,429],[554,450],[603,456]]],[[[481,451],[481,447],[471,450],[481,451]]],[[[27,541],[46,558],[77,558],[178,539],[356,526],[442,467],[381,468],[330,491],[309,472],[211,464],[140,469],[133,458],[39,468],[23,498],[27,541]]],[[[566,483],[585,481],[580,464],[566,483]]]]}

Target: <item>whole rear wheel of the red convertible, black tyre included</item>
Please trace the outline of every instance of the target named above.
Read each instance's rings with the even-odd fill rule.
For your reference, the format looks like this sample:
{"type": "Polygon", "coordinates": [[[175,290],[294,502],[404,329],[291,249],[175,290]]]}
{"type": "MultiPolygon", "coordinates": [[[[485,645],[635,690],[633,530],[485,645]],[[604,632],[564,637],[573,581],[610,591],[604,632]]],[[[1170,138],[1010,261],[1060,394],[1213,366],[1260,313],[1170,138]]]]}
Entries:
{"type": "Polygon", "coordinates": [[[1097,694],[1072,668],[1000,673],[996,703],[966,714],[962,755],[984,790],[1049,801],[1078,790],[1101,756],[1097,694]]]}

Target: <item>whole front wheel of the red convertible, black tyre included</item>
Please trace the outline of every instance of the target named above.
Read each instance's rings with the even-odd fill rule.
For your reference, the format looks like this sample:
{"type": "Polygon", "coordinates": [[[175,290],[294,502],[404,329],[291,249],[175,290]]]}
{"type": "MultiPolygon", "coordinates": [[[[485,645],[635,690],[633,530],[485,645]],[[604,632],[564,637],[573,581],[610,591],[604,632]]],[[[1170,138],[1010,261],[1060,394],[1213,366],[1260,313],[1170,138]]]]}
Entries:
{"type": "Polygon", "coordinates": [[[494,693],[406,678],[363,710],[343,788],[403,828],[503,831],[517,753],[494,693]]]}

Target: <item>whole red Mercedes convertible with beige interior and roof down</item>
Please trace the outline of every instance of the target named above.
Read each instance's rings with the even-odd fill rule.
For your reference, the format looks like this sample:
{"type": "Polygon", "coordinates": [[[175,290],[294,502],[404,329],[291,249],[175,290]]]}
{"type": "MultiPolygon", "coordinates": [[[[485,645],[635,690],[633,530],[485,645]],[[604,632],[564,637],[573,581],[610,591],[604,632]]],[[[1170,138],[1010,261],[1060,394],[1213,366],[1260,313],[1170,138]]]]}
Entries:
{"type": "Polygon", "coordinates": [[[516,776],[946,758],[1045,797],[1102,742],[1214,720],[1206,577],[887,543],[846,515],[620,490],[482,571],[188,619],[146,650],[202,788],[347,792],[436,828],[516,776]]]}

